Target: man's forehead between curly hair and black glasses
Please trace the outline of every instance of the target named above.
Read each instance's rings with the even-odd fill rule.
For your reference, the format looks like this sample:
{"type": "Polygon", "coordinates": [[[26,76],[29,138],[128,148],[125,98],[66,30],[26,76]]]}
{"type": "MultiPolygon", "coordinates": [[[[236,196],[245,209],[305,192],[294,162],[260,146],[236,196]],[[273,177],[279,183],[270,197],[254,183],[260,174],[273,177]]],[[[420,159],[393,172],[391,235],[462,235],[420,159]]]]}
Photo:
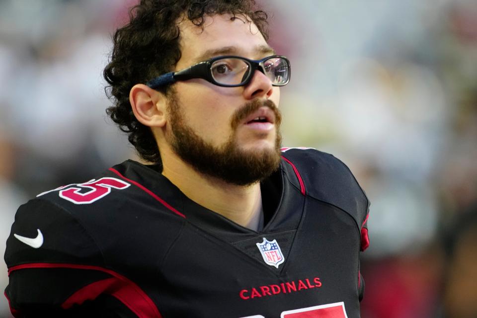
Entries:
{"type": "Polygon", "coordinates": [[[181,58],[177,69],[217,55],[239,55],[250,59],[270,55],[257,26],[244,16],[231,19],[230,14],[205,16],[203,27],[184,19],[179,23],[181,58]]]}

